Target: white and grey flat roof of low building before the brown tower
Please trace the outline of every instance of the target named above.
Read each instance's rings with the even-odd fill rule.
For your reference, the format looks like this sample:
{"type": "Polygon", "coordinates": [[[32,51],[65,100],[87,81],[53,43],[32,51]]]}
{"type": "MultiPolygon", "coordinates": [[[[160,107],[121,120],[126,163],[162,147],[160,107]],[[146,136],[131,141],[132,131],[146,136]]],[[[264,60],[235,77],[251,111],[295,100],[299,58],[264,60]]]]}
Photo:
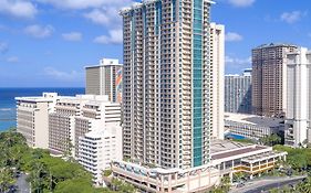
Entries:
{"type": "Polygon", "coordinates": [[[279,127],[283,119],[261,117],[257,115],[225,112],[225,120],[262,127],[279,127]]]}

